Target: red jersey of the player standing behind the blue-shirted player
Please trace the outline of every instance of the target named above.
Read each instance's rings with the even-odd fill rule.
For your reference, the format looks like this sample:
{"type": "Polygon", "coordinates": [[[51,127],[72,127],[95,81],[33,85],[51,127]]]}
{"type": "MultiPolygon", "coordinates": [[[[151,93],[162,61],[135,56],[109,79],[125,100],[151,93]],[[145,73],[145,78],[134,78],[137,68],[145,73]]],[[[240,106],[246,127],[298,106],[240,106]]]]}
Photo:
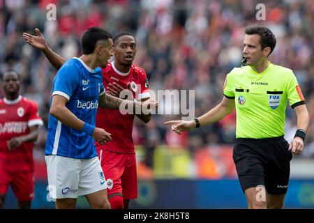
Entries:
{"type": "MultiPolygon", "coordinates": [[[[108,63],[103,68],[103,85],[106,88],[108,84],[114,82],[124,89],[127,89],[128,83],[131,83],[132,89],[136,92],[136,94],[133,92],[133,97],[137,100],[149,98],[147,76],[140,67],[132,65],[128,73],[122,73],[114,67],[114,62],[108,63]]],[[[132,139],[134,116],[134,114],[122,115],[119,110],[98,108],[96,126],[109,132],[112,141],[103,146],[96,142],[96,146],[105,151],[135,153],[132,139]]]]}

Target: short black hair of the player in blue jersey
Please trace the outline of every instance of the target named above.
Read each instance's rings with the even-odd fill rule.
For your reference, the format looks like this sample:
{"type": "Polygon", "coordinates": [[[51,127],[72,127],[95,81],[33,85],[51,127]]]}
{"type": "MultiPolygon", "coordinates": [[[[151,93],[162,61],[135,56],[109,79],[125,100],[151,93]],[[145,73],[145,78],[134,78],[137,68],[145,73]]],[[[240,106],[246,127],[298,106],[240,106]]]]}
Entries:
{"type": "Polygon", "coordinates": [[[91,27],[84,32],[82,36],[82,52],[83,54],[91,54],[94,52],[98,40],[112,39],[110,33],[99,27],[91,27]]]}

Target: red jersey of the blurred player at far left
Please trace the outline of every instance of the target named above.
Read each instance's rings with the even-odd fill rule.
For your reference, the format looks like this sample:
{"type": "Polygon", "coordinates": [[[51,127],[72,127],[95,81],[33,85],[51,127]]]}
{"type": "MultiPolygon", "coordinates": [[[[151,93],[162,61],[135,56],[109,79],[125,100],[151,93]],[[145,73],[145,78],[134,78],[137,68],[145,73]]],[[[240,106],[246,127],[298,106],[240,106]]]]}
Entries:
{"type": "Polygon", "coordinates": [[[6,142],[29,134],[29,127],[43,125],[38,107],[21,95],[16,100],[0,99],[0,167],[8,171],[33,171],[33,143],[24,142],[9,151],[6,142]]]}

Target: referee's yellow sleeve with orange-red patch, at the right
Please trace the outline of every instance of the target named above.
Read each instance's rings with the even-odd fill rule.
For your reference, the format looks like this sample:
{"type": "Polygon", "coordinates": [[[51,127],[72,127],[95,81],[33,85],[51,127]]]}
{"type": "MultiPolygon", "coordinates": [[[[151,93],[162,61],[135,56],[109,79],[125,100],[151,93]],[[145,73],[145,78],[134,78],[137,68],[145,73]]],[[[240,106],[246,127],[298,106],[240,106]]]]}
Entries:
{"type": "Polygon", "coordinates": [[[297,81],[297,77],[294,76],[293,72],[290,72],[287,82],[287,99],[292,109],[299,105],[305,104],[305,99],[304,96],[302,95],[300,86],[297,81]]]}

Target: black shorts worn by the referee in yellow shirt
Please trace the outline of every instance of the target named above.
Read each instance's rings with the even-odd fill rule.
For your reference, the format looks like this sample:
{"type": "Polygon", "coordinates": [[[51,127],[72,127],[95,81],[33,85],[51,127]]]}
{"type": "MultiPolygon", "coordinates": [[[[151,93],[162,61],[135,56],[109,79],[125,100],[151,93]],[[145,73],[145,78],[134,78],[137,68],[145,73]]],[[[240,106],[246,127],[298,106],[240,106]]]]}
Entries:
{"type": "Polygon", "coordinates": [[[264,185],[269,194],[285,194],[290,176],[292,153],[283,137],[237,139],[233,160],[242,191],[264,185]]]}

